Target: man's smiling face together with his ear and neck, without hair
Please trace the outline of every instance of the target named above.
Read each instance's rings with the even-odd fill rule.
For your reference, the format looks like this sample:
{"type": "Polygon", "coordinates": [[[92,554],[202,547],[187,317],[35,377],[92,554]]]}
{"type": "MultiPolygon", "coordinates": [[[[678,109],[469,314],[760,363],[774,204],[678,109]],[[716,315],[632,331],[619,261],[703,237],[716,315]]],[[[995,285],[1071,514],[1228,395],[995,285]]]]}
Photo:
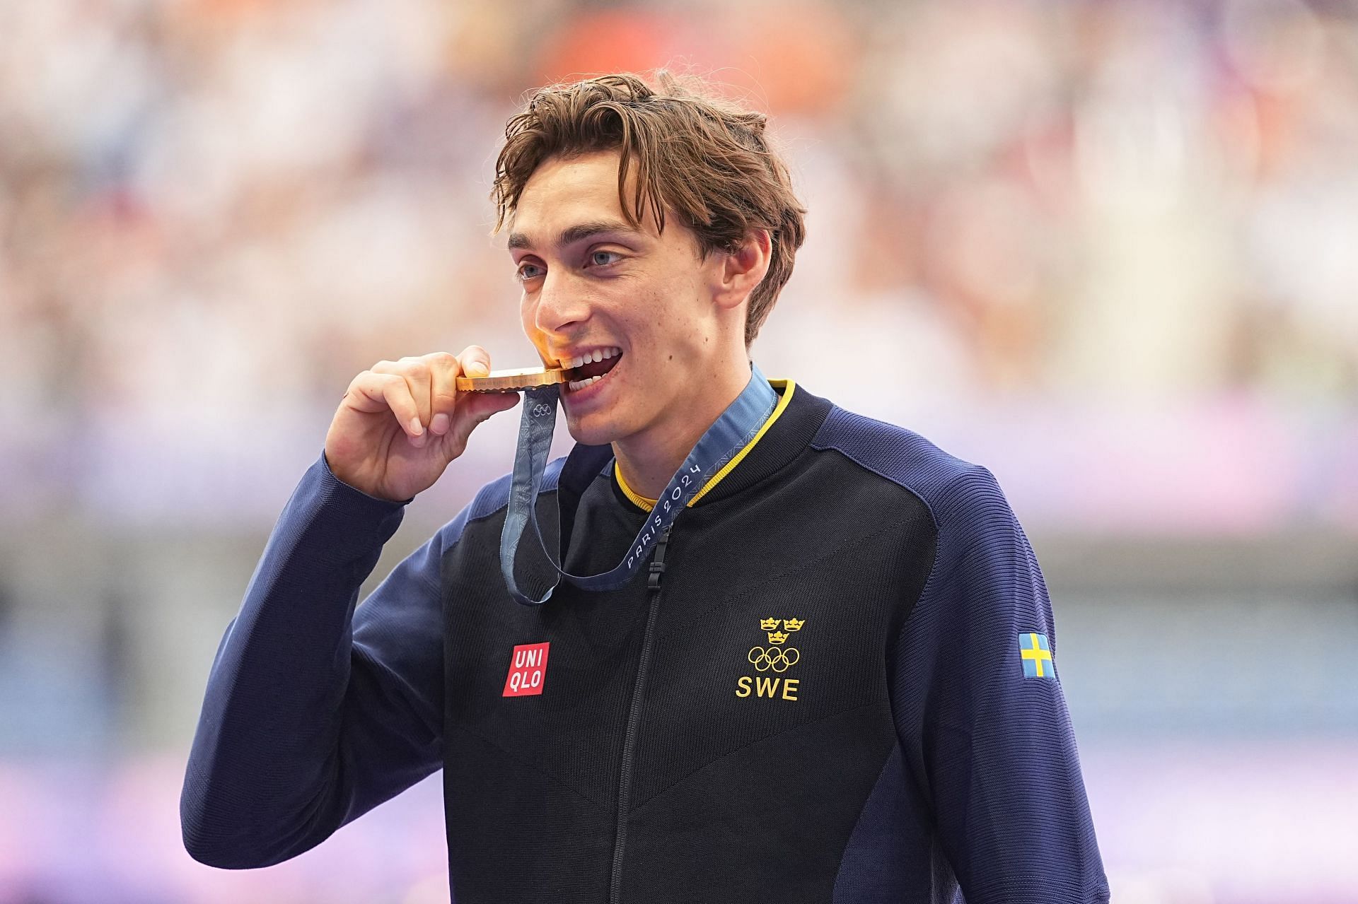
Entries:
{"type": "Polygon", "coordinates": [[[633,225],[618,167],[618,151],[543,160],[520,190],[508,244],[524,333],[543,362],[604,356],[600,375],[562,395],[570,436],[614,442],[638,491],[659,495],[750,380],[746,308],[770,240],[759,228],[736,254],[703,258],[690,231],[661,233],[650,209],[633,225]]]}

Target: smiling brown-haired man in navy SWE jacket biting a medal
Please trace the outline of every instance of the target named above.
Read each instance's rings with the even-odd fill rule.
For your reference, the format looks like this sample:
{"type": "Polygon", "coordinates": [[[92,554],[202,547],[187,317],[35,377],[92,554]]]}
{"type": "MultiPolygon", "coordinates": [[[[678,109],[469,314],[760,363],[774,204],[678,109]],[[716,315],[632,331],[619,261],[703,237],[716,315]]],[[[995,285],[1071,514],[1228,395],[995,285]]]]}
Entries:
{"type": "Polygon", "coordinates": [[[463,903],[1107,900],[994,479],[750,364],[803,239],[763,129],[663,75],[509,122],[494,197],[579,444],[535,489],[526,403],[513,478],[354,608],[516,400],[456,391],[478,346],[354,379],[213,664],[197,859],[277,863],[443,768],[463,903]]]}

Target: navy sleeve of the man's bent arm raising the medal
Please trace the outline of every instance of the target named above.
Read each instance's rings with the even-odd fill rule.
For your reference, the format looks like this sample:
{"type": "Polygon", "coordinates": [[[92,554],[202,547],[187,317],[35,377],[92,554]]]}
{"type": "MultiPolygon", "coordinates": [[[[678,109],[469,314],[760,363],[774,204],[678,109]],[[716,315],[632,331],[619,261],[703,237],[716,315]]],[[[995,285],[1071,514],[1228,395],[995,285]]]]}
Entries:
{"type": "Polygon", "coordinates": [[[208,677],[179,802],[194,859],[285,861],[441,764],[439,565],[466,512],[356,608],[403,512],[325,455],[293,491],[208,677]]]}

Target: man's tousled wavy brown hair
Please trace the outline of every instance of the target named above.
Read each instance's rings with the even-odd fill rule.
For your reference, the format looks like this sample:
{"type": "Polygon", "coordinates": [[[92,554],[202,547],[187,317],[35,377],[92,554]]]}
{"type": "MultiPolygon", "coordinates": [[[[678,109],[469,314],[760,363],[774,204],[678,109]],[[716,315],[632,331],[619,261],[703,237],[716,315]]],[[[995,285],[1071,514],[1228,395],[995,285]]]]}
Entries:
{"type": "Polygon", "coordinates": [[[505,125],[490,190],[496,231],[543,160],[617,149],[618,202],[633,227],[650,208],[663,232],[671,209],[694,232],[703,258],[735,251],[751,229],[769,231],[769,273],[750,293],[746,316],[748,347],[792,276],[807,232],[807,210],[792,191],[788,166],[770,148],[766,125],[765,114],[717,96],[702,79],[665,69],[649,79],[626,72],[539,88],[505,125]]]}

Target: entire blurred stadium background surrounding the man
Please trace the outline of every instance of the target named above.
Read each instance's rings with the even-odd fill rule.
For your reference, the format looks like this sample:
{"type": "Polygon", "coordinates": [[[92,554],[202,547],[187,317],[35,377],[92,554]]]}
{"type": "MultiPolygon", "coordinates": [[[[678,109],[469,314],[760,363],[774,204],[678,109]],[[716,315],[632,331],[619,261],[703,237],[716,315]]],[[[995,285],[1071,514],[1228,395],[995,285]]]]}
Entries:
{"type": "Polygon", "coordinates": [[[447,900],[437,779],[228,874],[183,759],[352,376],[532,362],[521,92],[663,64],[770,111],[811,209],[763,369],[1024,520],[1114,900],[1358,901],[1350,0],[16,0],[0,46],[0,904],[447,900]]]}

